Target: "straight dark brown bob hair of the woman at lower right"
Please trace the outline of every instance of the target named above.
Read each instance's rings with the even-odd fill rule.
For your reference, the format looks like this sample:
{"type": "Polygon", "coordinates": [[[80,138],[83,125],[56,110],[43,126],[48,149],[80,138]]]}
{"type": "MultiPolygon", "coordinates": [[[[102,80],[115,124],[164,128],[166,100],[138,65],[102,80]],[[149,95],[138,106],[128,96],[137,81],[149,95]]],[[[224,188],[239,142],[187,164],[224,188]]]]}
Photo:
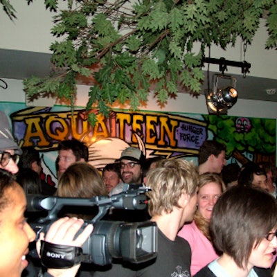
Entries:
{"type": "Polygon", "coordinates": [[[276,199],[261,188],[234,186],[213,207],[211,233],[215,247],[231,256],[242,269],[253,247],[276,225],[276,199]]]}

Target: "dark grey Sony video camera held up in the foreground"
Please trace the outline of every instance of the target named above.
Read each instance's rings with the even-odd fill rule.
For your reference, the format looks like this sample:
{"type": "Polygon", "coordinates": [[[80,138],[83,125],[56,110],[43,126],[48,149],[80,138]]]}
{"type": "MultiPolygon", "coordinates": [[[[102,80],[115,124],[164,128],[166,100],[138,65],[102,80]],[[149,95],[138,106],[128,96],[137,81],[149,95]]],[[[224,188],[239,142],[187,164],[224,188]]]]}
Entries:
{"type": "MultiPolygon", "coordinates": [[[[47,233],[51,224],[57,220],[57,213],[64,206],[98,206],[98,214],[84,226],[93,224],[93,232],[82,245],[82,262],[96,265],[108,265],[112,258],[122,258],[132,263],[140,263],[157,257],[157,224],[155,222],[113,222],[101,220],[109,208],[143,210],[147,199],[145,192],[149,188],[135,188],[125,184],[122,193],[111,197],[96,196],[87,198],[27,196],[27,211],[48,211],[48,215],[30,222],[30,226],[39,237],[47,233]]],[[[79,231],[79,233],[84,229],[79,231]]],[[[78,235],[78,234],[77,234],[78,235]]],[[[55,252],[55,251],[54,251],[55,252]]],[[[57,258],[55,253],[51,255],[57,258]]],[[[48,257],[41,257],[42,263],[48,257]]],[[[62,261],[59,261],[62,263],[62,261]]],[[[61,266],[60,268],[62,268],[61,266]]]]}

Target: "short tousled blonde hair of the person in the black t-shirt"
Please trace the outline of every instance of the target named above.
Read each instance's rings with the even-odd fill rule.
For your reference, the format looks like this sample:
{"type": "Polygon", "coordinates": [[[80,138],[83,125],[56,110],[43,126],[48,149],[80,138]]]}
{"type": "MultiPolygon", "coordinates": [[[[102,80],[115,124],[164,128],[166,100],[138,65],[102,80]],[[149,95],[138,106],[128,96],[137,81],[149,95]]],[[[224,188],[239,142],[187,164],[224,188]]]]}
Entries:
{"type": "Polygon", "coordinates": [[[193,163],[184,159],[162,160],[146,175],[146,186],[152,190],[148,212],[151,216],[171,213],[179,207],[178,200],[182,193],[194,195],[198,184],[198,171],[193,163]]]}

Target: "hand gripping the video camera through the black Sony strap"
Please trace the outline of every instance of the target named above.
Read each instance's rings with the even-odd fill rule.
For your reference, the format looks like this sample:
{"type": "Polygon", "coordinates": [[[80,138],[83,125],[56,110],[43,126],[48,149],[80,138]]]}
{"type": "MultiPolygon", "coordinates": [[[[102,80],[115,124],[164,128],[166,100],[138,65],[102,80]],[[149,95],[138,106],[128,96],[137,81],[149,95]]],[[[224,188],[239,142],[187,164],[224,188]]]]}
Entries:
{"type": "MultiPolygon", "coordinates": [[[[44,233],[39,234],[39,240],[37,241],[37,253],[40,253],[40,241],[45,240],[53,244],[69,245],[73,247],[82,247],[82,244],[89,238],[89,235],[93,231],[93,226],[88,224],[82,233],[75,238],[76,233],[80,230],[84,220],[77,219],[75,217],[62,217],[54,222],[46,235],[44,233]],[[74,240],[75,238],[75,240],[74,240]]],[[[48,274],[53,277],[73,277],[77,274],[79,265],[75,265],[70,269],[48,269],[48,274]]]]}

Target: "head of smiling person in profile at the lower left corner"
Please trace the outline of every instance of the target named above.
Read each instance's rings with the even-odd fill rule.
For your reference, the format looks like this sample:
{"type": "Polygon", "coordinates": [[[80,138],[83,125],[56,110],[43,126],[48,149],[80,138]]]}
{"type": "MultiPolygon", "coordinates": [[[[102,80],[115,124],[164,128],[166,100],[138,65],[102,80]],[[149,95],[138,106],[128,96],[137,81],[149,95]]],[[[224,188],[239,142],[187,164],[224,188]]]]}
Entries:
{"type": "Polygon", "coordinates": [[[28,265],[28,244],[35,240],[35,233],[24,217],[23,188],[13,181],[3,190],[0,202],[0,276],[20,277],[28,265]]]}

